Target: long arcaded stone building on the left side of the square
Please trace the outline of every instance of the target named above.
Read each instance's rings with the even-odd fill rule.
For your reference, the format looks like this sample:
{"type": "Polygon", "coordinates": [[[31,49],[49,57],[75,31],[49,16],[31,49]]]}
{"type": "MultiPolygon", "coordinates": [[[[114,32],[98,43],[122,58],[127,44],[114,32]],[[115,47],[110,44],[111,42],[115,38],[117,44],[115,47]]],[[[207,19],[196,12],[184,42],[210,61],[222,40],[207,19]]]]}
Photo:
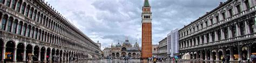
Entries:
{"type": "Polygon", "coordinates": [[[0,60],[66,61],[99,56],[99,46],[42,0],[0,0],[0,60]]]}

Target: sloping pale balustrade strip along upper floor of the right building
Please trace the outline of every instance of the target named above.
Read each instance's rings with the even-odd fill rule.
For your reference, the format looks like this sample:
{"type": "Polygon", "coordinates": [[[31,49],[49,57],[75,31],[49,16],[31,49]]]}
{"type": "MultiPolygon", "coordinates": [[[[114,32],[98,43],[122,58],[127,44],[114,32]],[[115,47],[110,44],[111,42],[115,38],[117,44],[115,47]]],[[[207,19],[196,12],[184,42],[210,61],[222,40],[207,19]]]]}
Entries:
{"type": "Polygon", "coordinates": [[[242,17],[243,15],[246,15],[246,14],[248,14],[248,13],[254,12],[255,9],[256,9],[256,6],[253,6],[253,7],[251,7],[250,9],[247,9],[247,10],[244,10],[244,11],[242,11],[242,12],[240,12],[240,13],[234,14],[232,17],[228,17],[228,18],[226,18],[225,20],[221,20],[221,21],[216,22],[216,23],[214,23],[214,24],[212,24],[212,25],[210,25],[210,26],[207,26],[207,27],[205,27],[205,28],[203,28],[203,29],[200,29],[200,30],[198,30],[198,31],[194,31],[194,32],[191,33],[191,34],[188,34],[188,35],[186,35],[186,36],[184,36],[184,37],[181,37],[179,40],[183,40],[184,38],[187,38],[187,37],[190,37],[190,36],[192,36],[192,35],[199,34],[199,33],[203,32],[203,31],[208,30],[208,29],[211,29],[211,28],[214,28],[214,27],[223,25],[225,22],[232,21],[232,20],[234,20],[234,19],[237,19],[237,18],[242,17]]]}

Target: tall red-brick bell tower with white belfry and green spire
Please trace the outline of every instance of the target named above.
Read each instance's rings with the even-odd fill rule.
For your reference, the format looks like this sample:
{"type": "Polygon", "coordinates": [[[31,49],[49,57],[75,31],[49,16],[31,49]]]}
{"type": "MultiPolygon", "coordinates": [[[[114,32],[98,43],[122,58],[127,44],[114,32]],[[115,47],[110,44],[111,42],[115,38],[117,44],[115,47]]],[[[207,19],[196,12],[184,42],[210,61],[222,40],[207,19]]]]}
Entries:
{"type": "Polygon", "coordinates": [[[144,1],[142,7],[142,58],[152,57],[152,26],[151,6],[149,0],[144,1]]]}

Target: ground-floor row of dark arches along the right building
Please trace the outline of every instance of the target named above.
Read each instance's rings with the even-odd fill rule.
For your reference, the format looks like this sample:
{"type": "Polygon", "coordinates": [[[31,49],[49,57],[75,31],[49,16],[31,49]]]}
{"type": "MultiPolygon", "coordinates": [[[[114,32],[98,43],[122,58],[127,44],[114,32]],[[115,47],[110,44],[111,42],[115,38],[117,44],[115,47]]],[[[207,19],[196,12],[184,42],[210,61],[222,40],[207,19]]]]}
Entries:
{"type": "Polygon", "coordinates": [[[180,56],[189,53],[193,60],[221,60],[227,58],[232,60],[252,60],[251,56],[256,55],[256,44],[221,47],[218,49],[206,49],[191,52],[181,52],[180,56]]]}

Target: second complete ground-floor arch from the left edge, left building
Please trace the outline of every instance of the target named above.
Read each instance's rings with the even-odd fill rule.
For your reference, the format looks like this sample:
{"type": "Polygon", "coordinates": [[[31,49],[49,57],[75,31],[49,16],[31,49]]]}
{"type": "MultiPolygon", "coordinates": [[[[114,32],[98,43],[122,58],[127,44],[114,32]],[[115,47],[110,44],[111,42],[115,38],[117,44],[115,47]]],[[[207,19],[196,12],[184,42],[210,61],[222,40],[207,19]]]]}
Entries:
{"type": "Polygon", "coordinates": [[[23,58],[24,58],[24,44],[23,43],[19,43],[17,45],[17,53],[16,53],[16,60],[17,61],[23,61],[23,58]]]}

